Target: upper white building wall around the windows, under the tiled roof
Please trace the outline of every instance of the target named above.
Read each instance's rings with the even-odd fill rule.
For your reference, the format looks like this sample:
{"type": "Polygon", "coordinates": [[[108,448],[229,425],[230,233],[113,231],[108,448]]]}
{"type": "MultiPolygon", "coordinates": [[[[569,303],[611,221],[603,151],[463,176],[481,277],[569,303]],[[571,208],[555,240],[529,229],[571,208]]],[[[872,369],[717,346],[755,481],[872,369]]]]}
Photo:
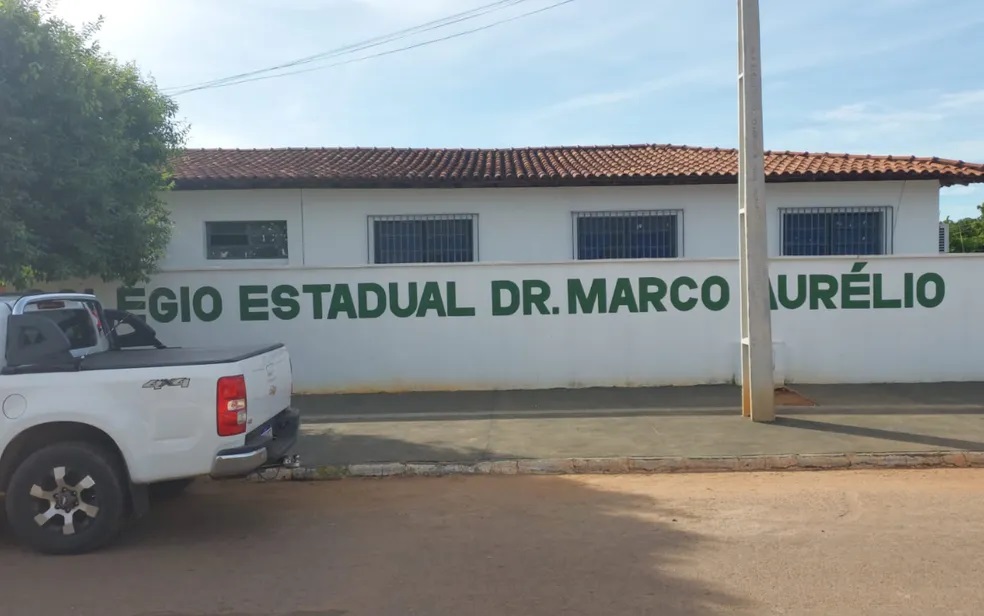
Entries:
{"type": "MultiPolygon", "coordinates": [[[[772,255],[779,254],[779,208],[818,206],[891,206],[894,253],[937,252],[936,181],[769,184],[766,197],[772,255]]],[[[478,214],[483,262],[569,261],[571,213],[595,210],[680,209],[683,257],[731,258],[738,251],[734,185],[177,191],[167,200],[176,228],[165,270],[256,266],[204,258],[205,221],[256,218],[287,220],[290,266],[365,265],[367,216],[392,214],[478,214]]]]}

